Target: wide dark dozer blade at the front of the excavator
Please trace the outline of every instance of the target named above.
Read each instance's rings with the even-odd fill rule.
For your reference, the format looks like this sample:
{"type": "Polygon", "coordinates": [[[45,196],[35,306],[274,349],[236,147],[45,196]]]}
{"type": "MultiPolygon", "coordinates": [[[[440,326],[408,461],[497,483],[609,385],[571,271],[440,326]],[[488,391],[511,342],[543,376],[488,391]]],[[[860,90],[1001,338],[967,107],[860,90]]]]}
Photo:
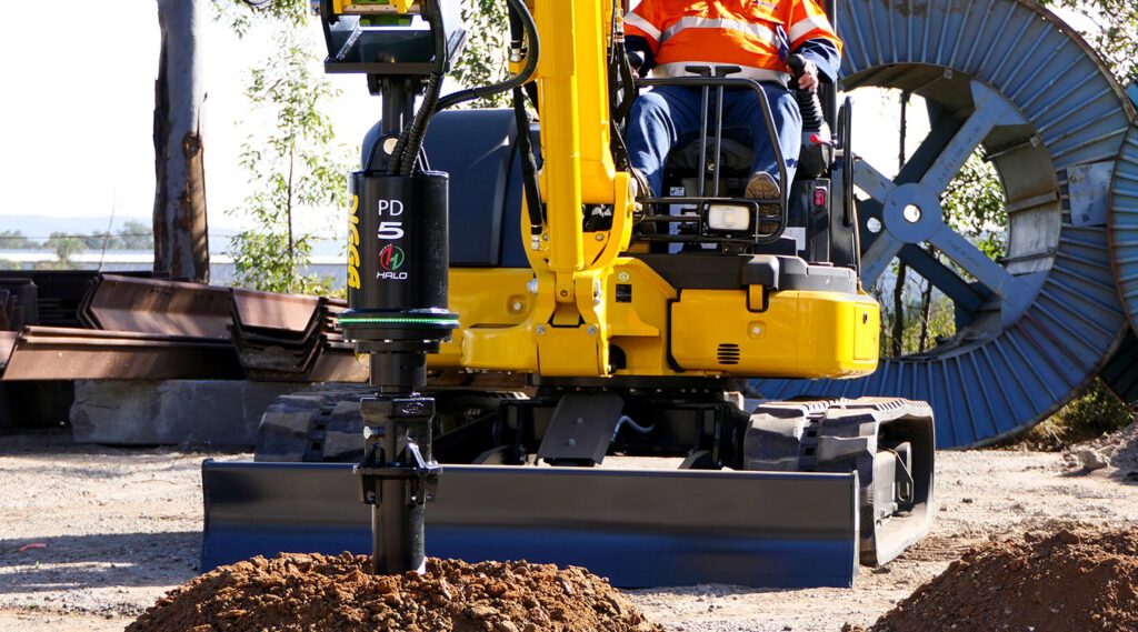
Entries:
{"type": "MultiPolygon", "coordinates": [[[[201,569],[278,552],[370,554],[345,464],[206,460],[201,569]]],[[[584,566],[624,588],[849,587],[857,474],[453,466],[427,552],[584,566]]]]}

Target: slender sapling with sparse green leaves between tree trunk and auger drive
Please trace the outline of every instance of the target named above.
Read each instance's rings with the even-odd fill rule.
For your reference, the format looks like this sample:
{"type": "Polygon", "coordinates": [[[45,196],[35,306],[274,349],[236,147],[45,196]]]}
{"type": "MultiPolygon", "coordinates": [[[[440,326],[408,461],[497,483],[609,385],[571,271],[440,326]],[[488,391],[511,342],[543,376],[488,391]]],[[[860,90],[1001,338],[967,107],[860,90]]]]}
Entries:
{"type": "MultiPolygon", "coordinates": [[[[249,174],[251,192],[230,214],[247,216],[254,227],[231,238],[231,248],[239,285],[327,293],[331,280],[302,272],[315,235],[297,234],[296,218],[347,206],[348,150],[336,143],[325,114],[338,91],[310,52],[315,47],[300,30],[307,14],[298,13],[299,5],[306,6],[274,3],[277,9],[254,15],[271,20],[278,32],[272,52],[249,74],[246,97],[253,116],[275,120],[277,126],[267,135],[251,134],[241,147],[240,164],[249,174]]],[[[248,16],[230,19],[239,33],[249,26],[248,16]]],[[[330,223],[331,218],[325,224],[330,223]]]]}

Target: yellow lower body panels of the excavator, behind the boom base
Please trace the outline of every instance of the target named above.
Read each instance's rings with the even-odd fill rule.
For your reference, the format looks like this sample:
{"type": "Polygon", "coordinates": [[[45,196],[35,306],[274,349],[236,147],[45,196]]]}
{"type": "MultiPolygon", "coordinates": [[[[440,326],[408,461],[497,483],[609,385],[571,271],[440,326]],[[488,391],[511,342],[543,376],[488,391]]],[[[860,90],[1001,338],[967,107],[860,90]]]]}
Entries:
{"type": "Polygon", "coordinates": [[[865,293],[761,285],[678,291],[645,263],[621,257],[601,293],[608,327],[554,326],[531,321],[534,278],[525,268],[453,268],[451,309],[461,329],[430,366],[809,379],[857,377],[877,367],[881,310],[865,293]]]}

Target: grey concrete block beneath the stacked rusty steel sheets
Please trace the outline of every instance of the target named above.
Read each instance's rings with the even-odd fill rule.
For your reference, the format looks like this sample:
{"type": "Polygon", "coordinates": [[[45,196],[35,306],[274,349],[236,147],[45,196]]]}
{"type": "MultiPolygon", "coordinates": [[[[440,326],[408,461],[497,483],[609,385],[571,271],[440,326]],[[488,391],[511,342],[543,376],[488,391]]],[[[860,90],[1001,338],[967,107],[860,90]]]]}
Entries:
{"type": "Polygon", "coordinates": [[[253,448],[265,408],[305,383],[220,380],[75,382],[76,443],[253,448]]]}

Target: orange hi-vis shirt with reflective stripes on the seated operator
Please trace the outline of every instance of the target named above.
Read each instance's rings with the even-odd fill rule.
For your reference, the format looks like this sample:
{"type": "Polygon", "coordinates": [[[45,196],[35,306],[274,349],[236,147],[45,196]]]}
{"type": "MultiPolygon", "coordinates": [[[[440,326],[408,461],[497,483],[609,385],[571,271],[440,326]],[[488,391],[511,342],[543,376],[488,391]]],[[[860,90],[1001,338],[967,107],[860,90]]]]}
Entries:
{"type": "Polygon", "coordinates": [[[842,42],[816,0],[642,0],[625,32],[649,42],[659,76],[690,75],[686,66],[740,66],[741,75],[786,84],[780,30],[793,51],[808,40],[842,42]],[[781,28],[780,28],[781,27],[781,28]]]}

